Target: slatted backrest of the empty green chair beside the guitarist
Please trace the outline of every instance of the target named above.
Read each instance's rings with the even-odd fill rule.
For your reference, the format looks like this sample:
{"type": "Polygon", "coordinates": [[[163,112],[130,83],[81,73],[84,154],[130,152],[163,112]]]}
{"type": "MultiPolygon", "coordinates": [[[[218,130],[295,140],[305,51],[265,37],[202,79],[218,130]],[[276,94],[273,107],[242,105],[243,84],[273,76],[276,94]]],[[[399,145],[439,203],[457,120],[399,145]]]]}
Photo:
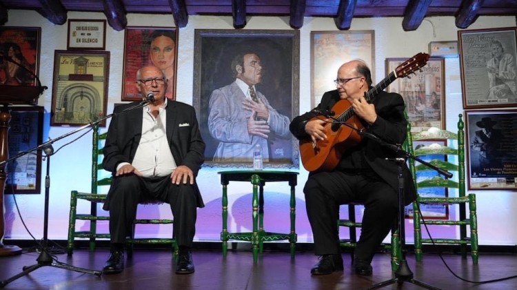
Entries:
{"type": "Polygon", "coordinates": [[[432,177],[421,178],[420,173],[434,171],[434,169],[421,163],[416,165],[415,160],[410,159],[409,169],[414,177],[417,190],[429,187],[446,187],[458,189],[458,197],[465,196],[465,133],[462,117],[461,114],[458,116],[457,133],[429,128],[426,131],[411,134],[411,125],[408,122],[406,150],[438,168],[456,173],[453,173],[452,179],[447,179],[438,175],[438,173],[432,177]],[[415,142],[420,143],[417,146],[418,148],[414,148],[415,142]]]}

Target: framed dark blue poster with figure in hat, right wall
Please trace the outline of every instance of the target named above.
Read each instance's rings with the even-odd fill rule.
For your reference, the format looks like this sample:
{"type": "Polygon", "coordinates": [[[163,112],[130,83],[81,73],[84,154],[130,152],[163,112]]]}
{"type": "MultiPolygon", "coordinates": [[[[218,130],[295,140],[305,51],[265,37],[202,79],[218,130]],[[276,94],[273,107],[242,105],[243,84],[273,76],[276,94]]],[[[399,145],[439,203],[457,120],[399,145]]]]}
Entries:
{"type": "Polygon", "coordinates": [[[469,190],[517,191],[516,124],[517,109],[465,110],[469,190]]]}

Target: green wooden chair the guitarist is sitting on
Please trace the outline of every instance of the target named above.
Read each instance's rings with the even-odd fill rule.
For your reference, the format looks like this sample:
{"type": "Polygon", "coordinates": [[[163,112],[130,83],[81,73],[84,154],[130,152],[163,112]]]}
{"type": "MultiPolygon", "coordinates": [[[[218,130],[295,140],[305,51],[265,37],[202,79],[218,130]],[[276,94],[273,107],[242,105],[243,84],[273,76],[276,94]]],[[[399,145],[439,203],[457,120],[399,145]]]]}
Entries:
{"type": "MultiPolygon", "coordinates": [[[[357,244],[357,231],[361,229],[362,223],[356,221],[356,208],[361,209],[363,204],[360,202],[351,202],[346,204],[348,210],[348,216],[345,219],[338,220],[338,229],[340,227],[348,228],[348,237],[342,238],[339,240],[339,244],[341,247],[345,249],[352,249],[351,257],[352,263],[354,262],[354,249],[357,244]]],[[[392,270],[396,271],[398,269],[398,264],[401,263],[402,253],[401,253],[401,237],[398,234],[398,229],[396,228],[396,220],[394,220],[394,228],[392,229],[392,242],[391,244],[382,244],[381,247],[385,249],[385,251],[390,251],[392,254],[392,270]]]]}

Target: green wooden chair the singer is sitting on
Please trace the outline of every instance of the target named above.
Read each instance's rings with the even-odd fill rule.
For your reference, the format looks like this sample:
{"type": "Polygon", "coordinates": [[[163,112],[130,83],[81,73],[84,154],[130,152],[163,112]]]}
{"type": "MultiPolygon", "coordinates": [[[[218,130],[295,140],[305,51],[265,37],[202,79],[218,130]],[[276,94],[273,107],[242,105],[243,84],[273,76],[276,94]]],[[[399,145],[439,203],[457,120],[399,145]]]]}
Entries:
{"type": "MultiPolygon", "coordinates": [[[[102,145],[106,139],[107,133],[99,134],[99,126],[94,126],[92,133],[92,183],[91,191],[89,193],[83,193],[79,191],[72,191],[70,195],[70,217],[68,224],[68,243],[67,253],[72,255],[74,250],[75,241],[77,238],[88,238],[90,240],[89,248],[90,251],[94,251],[96,247],[97,239],[109,239],[109,233],[99,233],[97,231],[97,222],[108,221],[110,218],[108,215],[99,215],[97,213],[99,208],[106,199],[106,194],[101,193],[101,189],[106,189],[110,186],[112,177],[107,171],[99,166],[102,156],[102,145]],[[78,201],[89,202],[90,212],[89,213],[77,213],[78,201]],[[90,229],[88,231],[76,231],[76,223],[78,220],[89,221],[90,229]]],[[[159,201],[149,200],[142,204],[161,204],[159,201]]],[[[133,222],[133,235],[132,238],[128,238],[128,255],[132,255],[132,246],[134,244],[168,244],[172,247],[174,257],[178,253],[178,246],[174,238],[134,238],[137,225],[141,224],[174,224],[174,220],[168,219],[139,219],[138,215],[133,222]]]]}

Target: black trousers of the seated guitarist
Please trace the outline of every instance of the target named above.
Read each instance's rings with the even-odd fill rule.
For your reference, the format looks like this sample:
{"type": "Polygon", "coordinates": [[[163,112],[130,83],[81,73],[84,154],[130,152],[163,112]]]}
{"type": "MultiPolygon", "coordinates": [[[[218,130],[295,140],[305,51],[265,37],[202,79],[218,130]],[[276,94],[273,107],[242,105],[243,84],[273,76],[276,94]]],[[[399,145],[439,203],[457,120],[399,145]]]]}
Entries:
{"type": "Polygon", "coordinates": [[[365,204],[361,236],[354,251],[361,260],[372,261],[376,249],[396,224],[398,193],[373,172],[314,173],[303,192],[316,255],[340,253],[337,220],[341,204],[365,204]]]}

